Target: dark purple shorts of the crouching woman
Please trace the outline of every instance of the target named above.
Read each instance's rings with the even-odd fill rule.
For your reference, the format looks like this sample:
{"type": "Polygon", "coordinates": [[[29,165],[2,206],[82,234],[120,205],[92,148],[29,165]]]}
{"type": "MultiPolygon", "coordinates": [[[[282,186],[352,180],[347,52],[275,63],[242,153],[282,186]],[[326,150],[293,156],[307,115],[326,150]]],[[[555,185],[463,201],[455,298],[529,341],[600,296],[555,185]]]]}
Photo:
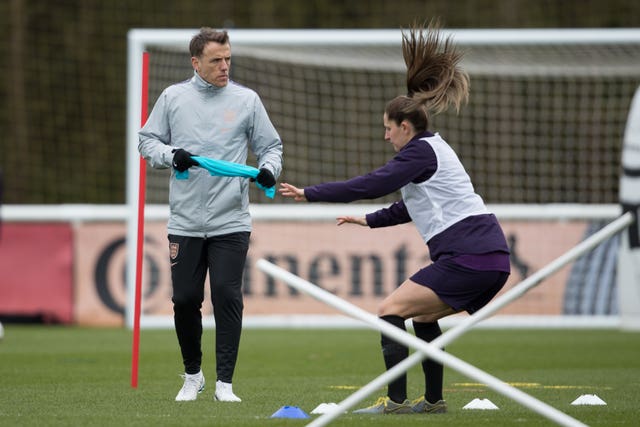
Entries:
{"type": "Polygon", "coordinates": [[[410,279],[426,286],[456,311],[472,314],[487,305],[509,278],[504,271],[482,271],[441,259],[419,270],[410,279]]]}

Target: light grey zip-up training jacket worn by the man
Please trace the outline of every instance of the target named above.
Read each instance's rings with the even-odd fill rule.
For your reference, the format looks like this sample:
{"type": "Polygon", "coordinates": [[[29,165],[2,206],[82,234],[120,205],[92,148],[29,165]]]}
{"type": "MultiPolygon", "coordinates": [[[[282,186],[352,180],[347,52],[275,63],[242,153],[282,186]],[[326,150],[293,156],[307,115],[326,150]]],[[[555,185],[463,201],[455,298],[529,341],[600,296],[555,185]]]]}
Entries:
{"type": "MultiPolygon", "coordinates": [[[[233,81],[216,87],[196,72],[166,88],[139,132],[138,151],[153,168],[171,168],[169,234],[209,237],[251,231],[249,180],[211,176],[191,167],[189,179],[177,180],[173,149],[246,164],[248,149],[258,168],[278,178],[282,141],[258,94],[233,81]]],[[[254,166],[254,165],[250,165],[254,166]]]]}

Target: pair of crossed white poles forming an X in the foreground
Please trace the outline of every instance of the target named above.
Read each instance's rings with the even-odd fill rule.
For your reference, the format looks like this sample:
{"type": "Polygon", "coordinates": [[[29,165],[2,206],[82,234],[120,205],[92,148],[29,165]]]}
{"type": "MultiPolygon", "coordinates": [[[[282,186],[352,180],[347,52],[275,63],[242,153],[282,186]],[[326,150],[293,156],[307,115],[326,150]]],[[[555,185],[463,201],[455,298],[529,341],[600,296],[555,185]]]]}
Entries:
{"type": "MultiPolygon", "coordinates": [[[[569,262],[575,260],[576,258],[580,257],[584,253],[586,253],[589,250],[593,249],[595,246],[600,244],[605,239],[611,237],[612,235],[614,235],[614,234],[620,232],[621,230],[623,230],[624,228],[628,227],[629,225],[631,225],[633,223],[633,221],[634,221],[634,216],[630,212],[627,212],[626,214],[622,215],[621,217],[619,217],[618,219],[616,219],[612,223],[608,224],[607,226],[603,227],[598,232],[594,233],[589,238],[585,239],[583,242],[581,242],[580,244],[578,244],[577,246],[575,246],[571,250],[567,251],[562,256],[558,257],[556,260],[554,260],[551,263],[549,263],[544,268],[542,268],[539,271],[537,271],[535,274],[533,274],[533,275],[529,276],[527,279],[523,280],[520,284],[514,286],[514,288],[512,288],[510,291],[504,293],[500,297],[496,298],[493,302],[491,302],[490,304],[486,305],[481,310],[479,310],[476,313],[474,313],[472,316],[469,316],[468,318],[463,320],[456,327],[453,327],[452,329],[446,331],[439,338],[437,338],[436,340],[431,342],[429,344],[429,346],[431,346],[432,348],[435,347],[435,348],[437,348],[437,350],[440,350],[442,347],[444,347],[445,345],[451,343],[456,338],[458,338],[460,335],[462,335],[464,332],[466,332],[468,329],[470,329],[474,324],[476,324],[479,321],[487,318],[488,316],[490,316],[491,314],[495,313],[496,311],[498,311],[502,307],[506,306],[507,304],[511,303],[515,299],[519,298],[524,293],[526,293],[529,289],[531,289],[534,286],[537,286],[546,277],[550,276],[551,274],[553,274],[554,272],[556,272],[557,270],[559,270],[560,268],[562,268],[563,266],[565,266],[569,262]]],[[[359,318],[360,320],[364,320],[366,323],[372,324],[371,322],[373,322],[373,320],[372,320],[372,317],[373,317],[374,319],[376,319],[376,322],[375,322],[375,324],[373,324],[373,326],[376,329],[379,329],[381,332],[384,333],[384,331],[382,329],[378,328],[378,326],[379,326],[378,325],[378,320],[379,319],[376,316],[373,316],[370,313],[367,313],[367,312],[359,309],[358,307],[351,305],[350,303],[348,303],[348,302],[336,297],[335,295],[330,294],[330,293],[322,290],[321,288],[318,288],[317,286],[311,284],[310,282],[306,282],[303,279],[300,279],[299,277],[297,277],[297,276],[295,276],[295,275],[293,275],[291,273],[288,273],[286,270],[283,270],[283,269],[281,269],[281,268],[275,266],[274,264],[271,264],[271,263],[269,263],[269,262],[267,262],[265,260],[259,260],[258,263],[257,263],[257,266],[258,266],[258,268],[260,268],[261,270],[267,272],[268,274],[271,274],[271,275],[273,275],[273,276],[275,276],[277,278],[280,278],[281,280],[284,280],[285,282],[287,282],[291,286],[296,287],[298,290],[303,291],[305,293],[308,293],[309,295],[315,297],[316,299],[319,299],[320,301],[325,302],[326,304],[331,305],[332,307],[337,308],[337,309],[339,309],[339,310],[341,310],[341,311],[343,311],[343,312],[345,312],[345,313],[347,313],[347,314],[349,314],[349,315],[351,315],[353,317],[359,318]],[[291,281],[289,281],[287,279],[291,279],[293,282],[291,282],[291,281]],[[294,283],[295,283],[295,285],[294,285],[294,283]],[[299,285],[300,287],[298,287],[296,285],[299,285]],[[352,312],[352,310],[355,313],[358,313],[358,316],[354,316],[354,312],[352,312]]],[[[391,325],[387,324],[384,321],[382,321],[382,323],[386,324],[386,326],[391,326],[391,325]]],[[[387,329],[386,326],[385,326],[385,329],[387,329]]],[[[391,335],[394,338],[396,338],[395,334],[404,332],[404,331],[401,331],[400,329],[395,328],[393,326],[391,326],[391,328],[394,329],[394,334],[391,335]]],[[[408,335],[409,337],[411,337],[412,339],[415,338],[411,334],[408,334],[406,332],[405,332],[405,334],[408,335]]],[[[418,341],[421,342],[421,343],[424,343],[421,340],[418,340],[418,341]]],[[[408,345],[411,345],[411,344],[408,344],[408,345]]],[[[421,347],[423,347],[423,346],[421,345],[421,347]]],[[[385,373],[383,373],[382,375],[380,375],[379,377],[374,379],[369,384],[367,384],[364,387],[360,388],[358,391],[356,391],[355,393],[350,395],[347,399],[343,400],[340,404],[338,404],[338,406],[336,408],[334,408],[334,410],[332,410],[329,413],[326,413],[326,414],[322,415],[321,417],[316,419],[314,422],[309,424],[309,426],[316,426],[317,427],[317,426],[324,426],[324,425],[328,424],[330,421],[332,421],[333,419],[335,419],[338,416],[340,416],[340,414],[344,413],[346,410],[351,408],[353,405],[355,405],[356,403],[358,403],[362,399],[366,398],[374,390],[376,390],[379,387],[382,387],[385,384],[387,384],[388,382],[394,380],[395,378],[400,376],[403,372],[406,372],[408,369],[410,369],[413,365],[415,365],[418,362],[420,362],[421,360],[423,360],[426,356],[431,356],[429,353],[426,353],[425,351],[421,351],[421,350],[424,350],[424,349],[418,348],[418,352],[417,353],[414,353],[411,357],[408,357],[403,362],[401,362],[398,365],[396,365],[394,368],[386,371],[385,373]]],[[[442,354],[444,354],[444,355],[447,355],[447,353],[444,353],[442,350],[440,350],[440,352],[442,354]]],[[[442,356],[442,354],[440,356],[442,356]]],[[[433,357],[433,358],[438,360],[436,357],[433,357]]],[[[446,357],[445,357],[445,359],[446,359],[446,357]]],[[[449,366],[455,368],[455,366],[450,364],[451,363],[450,360],[447,361],[447,362],[445,362],[443,360],[438,360],[438,361],[440,361],[441,363],[446,363],[449,366]]],[[[460,361],[460,362],[462,362],[462,361],[460,361]]],[[[462,362],[462,363],[464,364],[464,362],[462,362]]],[[[478,372],[470,372],[470,371],[468,371],[467,367],[464,366],[464,365],[460,365],[460,366],[463,366],[461,368],[463,370],[459,370],[459,371],[461,373],[465,374],[465,375],[470,376],[469,373],[472,373],[474,375],[478,374],[478,372]]],[[[471,365],[469,365],[469,366],[471,366],[471,365]]],[[[488,376],[488,374],[486,374],[486,373],[484,373],[482,371],[480,371],[480,373],[488,376]]],[[[536,399],[532,398],[531,396],[529,396],[529,395],[527,395],[527,394],[525,394],[523,392],[520,392],[517,389],[510,388],[510,386],[508,386],[507,384],[502,383],[501,381],[499,381],[499,380],[497,380],[497,379],[495,379],[495,378],[493,378],[491,376],[488,376],[488,378],[490,378],[491,384],[489,382],[485,382],[485,383],[489,387],[493,388],[494,390],[496,390],[498,392],[501,392],[501,393],[505,394],[505,396],[507,396],[507,397],[509,397],[509,398],[511,398],[513,400],[518,401],[519,403],[523,404],[524,406],[527,406],[530,409],[533,409],[534,411],[536,411],[536,412],[540,413],[541,415],[551,419],[552,421],[555,421],[560,425],[568,425],[568,426],[582,425],[579,421],[577,421],[577,420],[569,417],[568,415],[556,410],[555,408],[552,408],[552,407],[550,407],[550,406],[548,406],[548,405],[546,405],[546,404],[544,404],[544,403],[542,403],[540,401],[537,401],[536,399]],[[498,388],[496,388],[496,384],[498,384],[498,388]],[[506,394],[506,393],[512,392],[512,390],[517,390],[518,391],[518,393],[517,393],[518,396],[517,397],[514,397],[514,396],[511,396],[509,394],[506,394]],[[522,395],[524,395],[526,397],[523,398],[523,396],[520,395],[519,393],[521,393],[522,395]]]]}

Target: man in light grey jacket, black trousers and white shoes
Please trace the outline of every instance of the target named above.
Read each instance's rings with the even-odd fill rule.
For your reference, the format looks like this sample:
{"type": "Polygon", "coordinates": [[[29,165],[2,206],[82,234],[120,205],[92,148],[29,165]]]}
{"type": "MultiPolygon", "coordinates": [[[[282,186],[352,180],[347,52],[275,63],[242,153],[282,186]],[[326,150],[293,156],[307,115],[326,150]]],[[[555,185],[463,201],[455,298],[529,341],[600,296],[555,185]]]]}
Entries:
{"type": "Polygon", "coordinates": [[[184,363],[177,401],[195,400],[201,370],[204,282],[210,276],[216,322],[219,401],[240,401],[231,386],[242,328],[242,273],[249,246],[249,182],[211,176],[191,156],[246,164],[248,149],[272,187],[282,170],[282,142],[259,96],[229,80],[226,31],[202,28],[189,46],[194,75],[165,89],[139,133],[140,154],[154,168],[172,168],[167,225],[176,334],[184,363]],[[191,168],[191,169],[189,169],[191,168]],[[189,169],[177,180],[176,171],[189,169]]]}

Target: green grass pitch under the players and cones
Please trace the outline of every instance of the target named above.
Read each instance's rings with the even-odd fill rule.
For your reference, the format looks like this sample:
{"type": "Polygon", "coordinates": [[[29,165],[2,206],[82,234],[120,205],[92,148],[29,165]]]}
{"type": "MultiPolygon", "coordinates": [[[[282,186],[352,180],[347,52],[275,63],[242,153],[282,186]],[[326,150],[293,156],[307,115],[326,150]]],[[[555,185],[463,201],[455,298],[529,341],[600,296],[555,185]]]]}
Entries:
{"type": "MultiPolygon", "coordinates": [[[[246,329],[234,391],[241,403],[213,401],[213,330],[205,330],[207,387],[195,402],[175,402],[182,379],[172,330],[143,330],[139,383],[130,385],[132,333],[126,329],[4,325],[0,341],[2,426],[304,426],[271,418],[280,407],[307,414],[340,402],[383,372],[378,333],[368,329],[246,329]]],[[[616,330],[467,332],[447,352],[590,426],[640,423],[640,334],[616,330]],[[596,394],[606,406],[571,405],[596,394]]],[[[423,391],[409,371],[409,398],[423,391]]],[[[446,369],[442,415],[345,414],[335,426],[547,426],[551,421],[482,384],[446,369]],[[465,410],[487,398],[499,410],[465,410]]],[[[380,389],[367,406],[385,394],[380,389]]]]}

